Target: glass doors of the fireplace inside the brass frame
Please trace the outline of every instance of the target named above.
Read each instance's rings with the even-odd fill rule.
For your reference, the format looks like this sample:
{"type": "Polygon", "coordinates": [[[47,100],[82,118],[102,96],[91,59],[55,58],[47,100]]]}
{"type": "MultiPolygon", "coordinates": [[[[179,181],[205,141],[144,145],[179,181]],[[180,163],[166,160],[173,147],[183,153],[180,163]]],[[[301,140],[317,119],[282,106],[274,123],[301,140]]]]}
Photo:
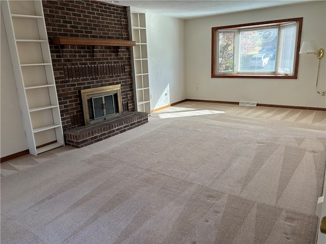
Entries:
{"type": "Polygon", "coordinates": [[[87,99],[90,120],[113,117],[119,114],[118,95],[106,95],[87,99]]]}

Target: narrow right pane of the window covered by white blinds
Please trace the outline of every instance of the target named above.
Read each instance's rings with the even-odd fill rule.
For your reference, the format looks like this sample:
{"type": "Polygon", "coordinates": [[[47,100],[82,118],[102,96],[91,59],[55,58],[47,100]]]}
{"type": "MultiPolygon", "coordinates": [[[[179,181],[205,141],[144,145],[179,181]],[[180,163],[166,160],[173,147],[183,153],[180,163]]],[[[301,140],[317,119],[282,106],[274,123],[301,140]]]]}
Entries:
{"type": "Polygon", "coordinates": [[[294,64],[296,23],[281,26],[278,72],[291,75],[294,64]]]}

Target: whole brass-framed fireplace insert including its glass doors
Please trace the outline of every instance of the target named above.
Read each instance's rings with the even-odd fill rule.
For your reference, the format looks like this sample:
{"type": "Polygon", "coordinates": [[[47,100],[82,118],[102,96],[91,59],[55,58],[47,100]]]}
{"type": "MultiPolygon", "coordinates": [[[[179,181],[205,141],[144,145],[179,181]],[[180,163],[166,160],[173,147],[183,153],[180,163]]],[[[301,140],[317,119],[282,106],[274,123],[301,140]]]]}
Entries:
{"type": "Polygon", "coordinates": [[[81,90],[85,125],[122,115],[120,85],[81,90]]]}

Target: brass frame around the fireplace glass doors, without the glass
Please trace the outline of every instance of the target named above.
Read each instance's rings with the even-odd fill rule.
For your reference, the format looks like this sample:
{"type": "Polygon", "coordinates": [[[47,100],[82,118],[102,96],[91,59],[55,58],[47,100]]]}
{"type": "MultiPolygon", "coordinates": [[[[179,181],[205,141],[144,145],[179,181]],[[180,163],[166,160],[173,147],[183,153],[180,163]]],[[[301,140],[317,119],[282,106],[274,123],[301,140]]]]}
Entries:
{"type": "Polygon", "coordinates": [[[96,123],[96,122],[99,122],[99,121],[104,121],[105,118],[111,118],[111,117],[116,117],[116,116],[122,115],[122,98],[121,98],[121,85],[120,84],[101,86],[101,87],[90,88],[90,89],[83,89],[83,90],[80,90],[80,94],[82,95],[84,122],[85,122],[86,126],[96,123]],[[95,118],[93,120],[90,120],[87,100],[92,97],[95,97],[95,96],[100,97],[100,96],[113,95],[113,94],[118,95],[119,114],[114,113],[114,114],[107,115],[105,117],[100,117],[98,119],[95,118]]]}

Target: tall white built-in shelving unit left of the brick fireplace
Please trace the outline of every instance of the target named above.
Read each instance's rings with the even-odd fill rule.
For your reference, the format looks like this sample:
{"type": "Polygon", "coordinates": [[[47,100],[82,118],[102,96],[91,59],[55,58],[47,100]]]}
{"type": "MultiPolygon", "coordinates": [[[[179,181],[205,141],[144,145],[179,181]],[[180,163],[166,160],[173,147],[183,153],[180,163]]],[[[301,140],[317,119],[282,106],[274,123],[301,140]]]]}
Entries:
{"type": "Polygon", "coordinates": [[[1,1],[30,154],[64,145],[42,1],[1,1]]]}

